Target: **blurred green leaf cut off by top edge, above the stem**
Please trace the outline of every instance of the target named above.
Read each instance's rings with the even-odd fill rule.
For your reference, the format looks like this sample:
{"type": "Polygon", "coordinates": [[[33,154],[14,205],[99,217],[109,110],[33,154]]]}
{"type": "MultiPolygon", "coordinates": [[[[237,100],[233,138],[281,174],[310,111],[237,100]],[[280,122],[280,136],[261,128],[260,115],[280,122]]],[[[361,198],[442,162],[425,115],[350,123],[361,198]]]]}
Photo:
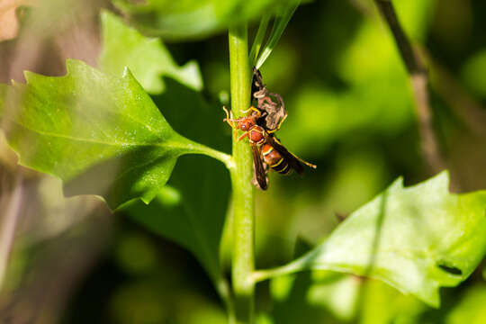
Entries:
{"type": "Polygon", "coordinates": [[[113,0],[139,31],[166,39],[201,38],[274,12],[295,0],[113,0]]]}

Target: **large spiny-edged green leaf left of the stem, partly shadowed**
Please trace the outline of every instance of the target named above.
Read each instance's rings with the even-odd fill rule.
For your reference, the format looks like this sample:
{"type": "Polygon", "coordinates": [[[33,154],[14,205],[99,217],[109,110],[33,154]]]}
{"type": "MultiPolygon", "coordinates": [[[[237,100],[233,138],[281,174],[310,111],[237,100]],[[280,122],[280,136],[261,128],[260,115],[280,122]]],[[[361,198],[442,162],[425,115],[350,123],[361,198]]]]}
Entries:
{"type": "Polygon", "coordinates": [[[66,76],[25,78],[3,85],[7,139],[20,164],[57,175],[67,194],[103,195],[112,209],[149,202],[177,157],[202,148],[169,126],[128,70],[109,76],[67,60],[66,76]]]}

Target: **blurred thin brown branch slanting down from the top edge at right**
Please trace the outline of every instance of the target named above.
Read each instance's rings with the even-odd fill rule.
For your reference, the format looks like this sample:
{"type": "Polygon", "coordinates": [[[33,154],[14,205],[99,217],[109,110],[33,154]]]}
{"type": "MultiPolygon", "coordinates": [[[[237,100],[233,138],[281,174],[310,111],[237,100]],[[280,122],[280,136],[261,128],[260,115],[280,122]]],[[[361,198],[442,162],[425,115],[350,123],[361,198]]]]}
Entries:
{"type": "Polygon", "coordinates": [[[393,4],[388,0],[374,0],[392,31],[401,59],[410,75],[417,115],[419,119],[420,146],[430,170],[437,173],[446,168],[432,125],[432,110],[428,96],[428,70],[413,49],[409,38],[398,20],[393,4]]]}

